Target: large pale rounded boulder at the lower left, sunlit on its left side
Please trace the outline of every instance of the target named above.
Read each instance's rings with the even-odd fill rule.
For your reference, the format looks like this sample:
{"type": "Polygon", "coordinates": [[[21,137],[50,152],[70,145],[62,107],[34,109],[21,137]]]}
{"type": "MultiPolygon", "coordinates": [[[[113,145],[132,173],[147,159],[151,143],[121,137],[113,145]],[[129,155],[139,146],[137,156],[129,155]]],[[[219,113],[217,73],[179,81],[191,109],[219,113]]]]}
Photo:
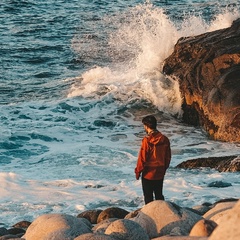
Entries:
{"type": "Polygon", "coordinates": [[[91,223],[85,218],[76,218],[67,214],[44,214],[32,222],[23,238],[73,240],[81,234],[91,232],[91,223]]]}

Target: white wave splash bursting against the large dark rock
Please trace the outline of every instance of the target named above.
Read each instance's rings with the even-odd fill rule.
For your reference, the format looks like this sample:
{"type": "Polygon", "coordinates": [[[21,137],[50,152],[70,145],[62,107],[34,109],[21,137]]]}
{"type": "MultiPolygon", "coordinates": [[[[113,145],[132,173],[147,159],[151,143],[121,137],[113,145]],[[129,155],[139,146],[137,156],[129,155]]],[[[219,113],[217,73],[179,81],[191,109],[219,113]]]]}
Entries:
{"type": "MultiPolygon", "coordinates": [[[[105,29],[111,29],[111,32],[107,33],[106,46],[102,45],[107,55],[103,59],[108,60],[103,66],[94,66],[77,78],[68,97],[107,96],[123,104],[144,99],[160,111],[181,115],[178,82],[161,73],[164,59],[171,54],[180,37],[229,27],[238,16],[237,11],[224,10],[209,23],[201,16],[185,15],[175,24],[162,8],[148,2],[118,16],[106,17],[105,29]]],[[[81,54],[79,41],[75,39],[72,47],[81,54]]],[[[102,52],[100,46],[99,51],[96,48],[98,46],[94,48],[95,53],[102,52]]]]}

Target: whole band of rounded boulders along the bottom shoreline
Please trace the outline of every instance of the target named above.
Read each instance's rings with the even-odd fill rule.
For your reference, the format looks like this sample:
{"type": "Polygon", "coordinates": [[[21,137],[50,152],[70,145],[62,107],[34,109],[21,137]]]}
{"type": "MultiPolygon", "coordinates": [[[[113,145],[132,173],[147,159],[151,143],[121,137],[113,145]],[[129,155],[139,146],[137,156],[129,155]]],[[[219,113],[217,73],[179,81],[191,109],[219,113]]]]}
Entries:
{"type": "Polygon", "coordinates": [[[169,201],[153,201],[128,212],[110,207],[79,213],[45,214],[32,223],[0,227],[0,240],[237,240],[240,199],[224,199],[183,208],[169,201]]]}

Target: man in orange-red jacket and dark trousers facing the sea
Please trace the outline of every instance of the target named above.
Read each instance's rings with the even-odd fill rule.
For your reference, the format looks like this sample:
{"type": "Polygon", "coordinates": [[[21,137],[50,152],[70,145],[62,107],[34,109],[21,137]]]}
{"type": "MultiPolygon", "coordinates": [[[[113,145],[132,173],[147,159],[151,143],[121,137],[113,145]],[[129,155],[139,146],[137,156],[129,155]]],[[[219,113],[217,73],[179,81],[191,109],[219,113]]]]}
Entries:
{"type": "Polygon", "coordinates": [[[157,119],[153,115],[142,119],[147,133],[142,139],[135,168],[136,179],[141,176],[145,204],[154,200],[164,200],[163,179],[171,161],[169,139],[157,130],[157,119]]]}

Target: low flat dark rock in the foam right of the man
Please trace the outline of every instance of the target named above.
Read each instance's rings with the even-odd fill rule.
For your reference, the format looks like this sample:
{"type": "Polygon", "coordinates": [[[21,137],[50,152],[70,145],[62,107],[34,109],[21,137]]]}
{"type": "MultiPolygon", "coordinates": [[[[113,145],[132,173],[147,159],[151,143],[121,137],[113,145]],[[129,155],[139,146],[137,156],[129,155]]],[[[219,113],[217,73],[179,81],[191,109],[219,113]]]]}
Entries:
{"type": "Polygon", "coordinates": [[[226,156],[226,157],[197,158],[182,162],[178,164],[176,167],[184,169],[209,167],[215,168],[219,172],[239,172],[240,157],[226,156]]]}

